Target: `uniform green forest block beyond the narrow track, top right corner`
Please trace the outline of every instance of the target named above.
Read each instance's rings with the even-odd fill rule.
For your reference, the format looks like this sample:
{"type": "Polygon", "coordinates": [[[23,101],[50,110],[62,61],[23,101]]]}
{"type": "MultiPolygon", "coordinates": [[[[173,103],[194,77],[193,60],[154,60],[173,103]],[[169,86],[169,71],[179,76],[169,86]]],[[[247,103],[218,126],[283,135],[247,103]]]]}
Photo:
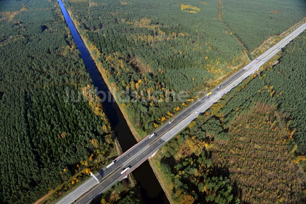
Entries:
{"type": "Polygon", "coordinates": [[[248,51],[280,35],[306,16],[306,3],[294,1],[221,0],[221,19],[248,51]]]}

